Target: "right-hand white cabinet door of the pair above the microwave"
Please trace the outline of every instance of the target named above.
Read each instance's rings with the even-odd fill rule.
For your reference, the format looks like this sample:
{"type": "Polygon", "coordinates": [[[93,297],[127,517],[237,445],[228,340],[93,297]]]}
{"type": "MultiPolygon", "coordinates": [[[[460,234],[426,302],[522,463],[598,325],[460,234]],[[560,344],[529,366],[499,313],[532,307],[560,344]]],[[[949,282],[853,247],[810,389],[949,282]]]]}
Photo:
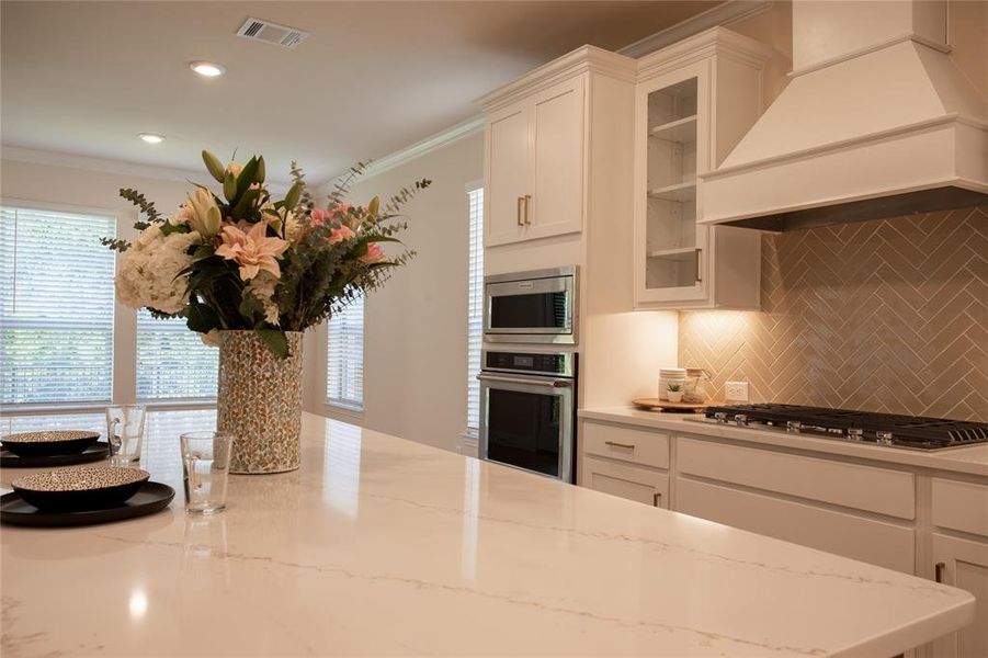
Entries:
{"type": "Polygon", "coordinates": [[[525,239],[579,232],[583,226],[584,77],[542,91],[532,103],[525,239]]]}

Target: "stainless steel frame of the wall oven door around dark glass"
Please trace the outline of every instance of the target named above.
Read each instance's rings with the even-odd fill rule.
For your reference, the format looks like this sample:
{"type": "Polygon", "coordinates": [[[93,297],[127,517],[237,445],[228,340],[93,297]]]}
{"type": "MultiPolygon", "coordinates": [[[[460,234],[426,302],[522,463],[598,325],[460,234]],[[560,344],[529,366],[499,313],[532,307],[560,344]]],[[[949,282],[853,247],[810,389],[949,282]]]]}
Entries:
{"type": "MultiPolygon", "coordinates": [[[[511,381],[504,381],[509,378],[492,378],[489,375],[484,375],[484,373],[481,373],[477,375],[477,379],[480,381],[480,435],[478,440],[478,456],[485,462],[493,462],[495,464],[501,464],[503,466],[518,468],[519,470],[534,473],[535,475],[541,475],[550,479],[559,479],[564,483],[572,483],[575,412],[574,387],[571,385],[565,387],[553,386],[553,383],[556,381],[554,377],[545,377],[541,375],[531,377],[510,377],[511,381]],[[561,398],[561,409],[559,411],[559,464],[557,466],[559,477],[553,477],[552,475],[540,473],[537,470],[530,470],[514,464],[503,464],[502,462],[491,460],[487,456],[490,445],[487,427],[487,398],[491,388],[497,388],[500,390],[514,390],[518,393],[534,393],[537,395],[546,395],[546,388],[548,388],[550,392],[549,395],[555,395],[561,398]]],[[[567,384],[571,384],[571,382],[567,382],[567,384]]]]}

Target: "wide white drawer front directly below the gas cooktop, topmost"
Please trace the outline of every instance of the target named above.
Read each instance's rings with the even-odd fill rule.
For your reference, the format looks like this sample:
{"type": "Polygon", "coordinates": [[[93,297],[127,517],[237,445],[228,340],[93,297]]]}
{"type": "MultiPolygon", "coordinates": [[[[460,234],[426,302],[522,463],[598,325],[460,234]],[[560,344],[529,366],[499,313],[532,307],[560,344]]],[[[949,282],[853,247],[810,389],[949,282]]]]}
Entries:
{"type": "Polygon", "coordinates": [[[899,519],[916,518],[911,473],[685,438],[679,439],[677,450],[680,473],[899,519]]]}

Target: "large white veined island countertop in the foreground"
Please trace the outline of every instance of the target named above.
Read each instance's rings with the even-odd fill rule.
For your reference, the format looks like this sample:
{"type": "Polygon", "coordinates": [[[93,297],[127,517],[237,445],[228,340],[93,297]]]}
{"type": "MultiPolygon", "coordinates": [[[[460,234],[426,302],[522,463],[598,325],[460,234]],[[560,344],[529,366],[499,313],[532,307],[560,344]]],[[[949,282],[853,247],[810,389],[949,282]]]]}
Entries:
{"type": "Polygon", "coordinates": [[[169,510],[3,527],[4,656],[893,656],[973,619],[962,590],[308,415],[300,470],[188,517],[178,434],[208,413],[151,415],[169,510]]]}

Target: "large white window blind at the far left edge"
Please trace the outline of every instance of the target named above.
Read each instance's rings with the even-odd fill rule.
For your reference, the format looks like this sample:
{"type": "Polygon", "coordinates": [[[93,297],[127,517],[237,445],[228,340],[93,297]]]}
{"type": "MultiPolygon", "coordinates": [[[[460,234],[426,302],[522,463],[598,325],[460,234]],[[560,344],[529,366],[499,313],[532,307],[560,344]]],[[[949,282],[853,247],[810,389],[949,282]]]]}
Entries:
{"type": "Polygon", "coordinates": [[[113,396],[116,218],[0,207],[0,402],[113,396]]]}

